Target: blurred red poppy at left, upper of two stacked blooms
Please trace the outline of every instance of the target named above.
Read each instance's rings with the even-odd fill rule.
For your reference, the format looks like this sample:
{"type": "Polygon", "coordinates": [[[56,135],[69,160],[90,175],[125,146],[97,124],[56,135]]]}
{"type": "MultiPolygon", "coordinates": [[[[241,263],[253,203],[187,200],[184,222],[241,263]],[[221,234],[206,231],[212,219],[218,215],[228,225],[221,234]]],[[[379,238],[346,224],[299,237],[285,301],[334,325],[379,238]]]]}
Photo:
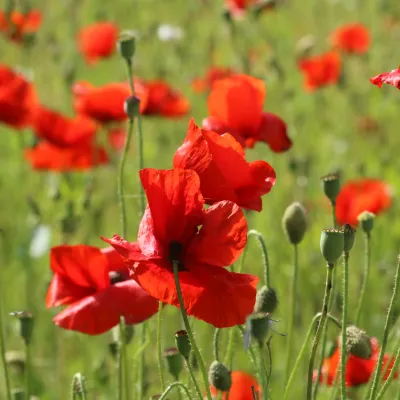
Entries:
{"type": "Polygon", "coordinates": [[[85,116],[68,118],[45,107],[37,107],[32,124],[38,138],[58,147],[89,144],[97,130],[96,123],[85,116]]]}

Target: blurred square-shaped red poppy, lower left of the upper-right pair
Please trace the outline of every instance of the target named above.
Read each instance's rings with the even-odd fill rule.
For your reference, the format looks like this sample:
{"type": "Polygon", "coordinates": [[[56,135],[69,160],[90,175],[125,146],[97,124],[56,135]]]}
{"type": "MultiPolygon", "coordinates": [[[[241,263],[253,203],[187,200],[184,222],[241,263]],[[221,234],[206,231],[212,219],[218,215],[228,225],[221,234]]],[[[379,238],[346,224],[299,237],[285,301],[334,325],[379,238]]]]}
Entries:
{"type": "Polygon", "coordinates": [[[312,92],[338,82],[342,61],[338,53],[331,51],[319,56],[301,59],[299,68],[304,74],[305,89],[312,92]]]}

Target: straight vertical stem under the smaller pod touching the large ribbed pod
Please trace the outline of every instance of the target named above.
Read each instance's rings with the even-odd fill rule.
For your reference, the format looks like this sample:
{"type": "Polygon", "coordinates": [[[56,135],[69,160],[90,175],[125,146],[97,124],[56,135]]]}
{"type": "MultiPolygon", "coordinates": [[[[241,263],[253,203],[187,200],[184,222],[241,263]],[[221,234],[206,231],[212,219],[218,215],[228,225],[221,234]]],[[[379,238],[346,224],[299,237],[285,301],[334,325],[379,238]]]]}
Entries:
{"type": "Polygon", "coordinates": [[[349,252],[343,255],[343,309],[342,309],[342,343],[340,349],[340,396],[346,400],[346,327],[349,302],[349,252]]]}

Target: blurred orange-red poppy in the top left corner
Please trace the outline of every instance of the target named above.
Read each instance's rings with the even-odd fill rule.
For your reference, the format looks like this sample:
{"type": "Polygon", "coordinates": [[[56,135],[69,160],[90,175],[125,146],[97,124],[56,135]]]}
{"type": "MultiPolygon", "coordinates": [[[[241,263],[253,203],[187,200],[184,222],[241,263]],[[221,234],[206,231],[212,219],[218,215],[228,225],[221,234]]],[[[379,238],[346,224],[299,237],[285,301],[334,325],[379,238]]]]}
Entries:
{"type": "Polygon", "coordinates": [[[20,42],[25,35],[35,33],[42,24],[42,15],[37,10],[31,10],[27,14],[12,11],[7,17],[4,11],[0,11],[0,31],[11,40],[20,42]]]}

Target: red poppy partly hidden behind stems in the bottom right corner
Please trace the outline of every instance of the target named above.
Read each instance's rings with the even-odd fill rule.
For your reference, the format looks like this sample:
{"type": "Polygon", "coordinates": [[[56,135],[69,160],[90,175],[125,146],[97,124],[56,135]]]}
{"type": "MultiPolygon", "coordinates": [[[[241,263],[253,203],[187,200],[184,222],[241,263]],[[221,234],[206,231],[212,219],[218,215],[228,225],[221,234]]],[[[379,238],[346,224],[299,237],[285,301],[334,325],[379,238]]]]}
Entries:
{"type": "MultiPolygon", "coordinates": [[[[379,346],[376,338],[371,338],[372,355],[369,359],[360,358],[354,354],[350,354],[346,363],[346,386],[358,386],[368,383],[374,370],[379,357],[379,346]]],[[[385,373],[383,379],[387,379],[394,364],[394,357],[385,354],[383,359],[382,372],[386,371],[387,363],[390,362],[389,368],[385,373]]],[[[325,358],[322,364],[320,382],[326,382],[327,385],[332,386],[335,382],[335,377],[340,365],[340,349],[339,347],[333,352],[329,358],[325,358]]],[[[314,380],[317,377],[317,371],[314,371],[314,380]]]]}

